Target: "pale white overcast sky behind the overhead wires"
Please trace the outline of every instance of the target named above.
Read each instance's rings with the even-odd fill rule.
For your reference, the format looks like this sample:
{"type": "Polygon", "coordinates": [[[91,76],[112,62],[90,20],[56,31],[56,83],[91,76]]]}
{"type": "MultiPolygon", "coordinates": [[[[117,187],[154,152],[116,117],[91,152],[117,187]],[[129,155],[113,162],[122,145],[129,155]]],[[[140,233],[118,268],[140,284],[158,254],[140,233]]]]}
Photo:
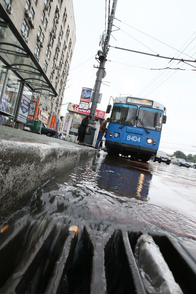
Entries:
{"type": "MultiPolygon", "coordinates": [[[[111,5],[112,2],[111,0],[111,5]]],[[[95,56],[100,49],[100,35],[105,30],[105,3],[105,0],[73,0],[76,46],[63,103],[79,104],[82,87],[94,86],[97,70],[93,65],[98,65],[98,62],[92,56],[95,56]],[[89,58],[90,60],[85,62],[89,58]],[[80,65],[82,62],[85,63],[80,65]]],[[[121,30],[112,33],[116,40],[111,36],[110,45],[194,60],[196,59],[195,11],[196,2],[190,0],[186,3],[182,0],[164,2],[118,0],[115,17],[126,24],[114,20],[113,24],[121,30]]],[[[113,30],[116,29],[113,27],[113,30]]],[[[105,111],[109,97],[115,98],[121,93],[160,102],[167,109],[167,123],[163,125],[161,136],[161,142],[167,144],[162,143],[161,149],[170,152],[180,149],[186,154],[196,153],[196,147],[193,147],[196,146],[196,71],[191,71],[196,68],[182,62],[178,64],[177,61],[169,62],[167,59],[114,48],[110,48],[107,59],[110,62],[106,63],[107,74],[103,82],[107,81],[111,84],[106,83],[110,87],[102,84],[100,91],[103,93],[102,102],[97,108],[105,111]],[[182,67],[187,70],[150,70],[150,68],[166,67],[182,67]]],[[[196,67],[196,63],[190,62],[190,64],[196,67]]],[[[67,112],[66,109],[67,105],[62,106],[62,114],[67,112]]]]}

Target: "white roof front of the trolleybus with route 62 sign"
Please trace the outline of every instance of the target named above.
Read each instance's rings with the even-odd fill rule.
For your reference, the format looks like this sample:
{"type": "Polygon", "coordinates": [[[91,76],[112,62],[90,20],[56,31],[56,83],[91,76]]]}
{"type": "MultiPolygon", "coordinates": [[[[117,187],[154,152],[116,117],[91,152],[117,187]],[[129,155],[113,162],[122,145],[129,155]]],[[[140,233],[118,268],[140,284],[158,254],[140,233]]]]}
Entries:
{"type": "Polygon", "coordinates": [[[163,104],[156,102],[154,100],[148,100],[140,97],[134,97],[134,96],[125,96],[125,97],[116,97],[114,100],[114,103],[124,103],[124,104],[134,104],[138,106],[147,106],[150,108],[157,108],[164,111],[163,104]]]}

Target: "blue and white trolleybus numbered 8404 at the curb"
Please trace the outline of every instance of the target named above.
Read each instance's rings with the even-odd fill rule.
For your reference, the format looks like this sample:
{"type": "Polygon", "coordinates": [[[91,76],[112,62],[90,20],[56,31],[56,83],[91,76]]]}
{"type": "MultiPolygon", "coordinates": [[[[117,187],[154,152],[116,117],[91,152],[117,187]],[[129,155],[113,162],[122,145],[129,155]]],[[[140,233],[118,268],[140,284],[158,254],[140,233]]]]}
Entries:
{"type": "Polygon", "coordinates": [[[116,98],[106,135],[108,154],[148,161],[157,153],[164,123],[166,108],[162,104],[138,97],[116,98]]]}

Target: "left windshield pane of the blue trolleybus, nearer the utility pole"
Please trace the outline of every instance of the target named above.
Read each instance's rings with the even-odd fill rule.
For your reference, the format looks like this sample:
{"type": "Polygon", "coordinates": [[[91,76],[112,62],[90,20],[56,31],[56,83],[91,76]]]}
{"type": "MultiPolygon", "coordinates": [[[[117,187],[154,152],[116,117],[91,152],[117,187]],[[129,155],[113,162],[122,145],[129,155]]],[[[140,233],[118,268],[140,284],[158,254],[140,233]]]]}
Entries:
{"type": "Polygon", "coordinates": [[[110,118],[111,123],[134,125],[138,107],[135,105],[127,105],[115,103],[110,118]]]}

